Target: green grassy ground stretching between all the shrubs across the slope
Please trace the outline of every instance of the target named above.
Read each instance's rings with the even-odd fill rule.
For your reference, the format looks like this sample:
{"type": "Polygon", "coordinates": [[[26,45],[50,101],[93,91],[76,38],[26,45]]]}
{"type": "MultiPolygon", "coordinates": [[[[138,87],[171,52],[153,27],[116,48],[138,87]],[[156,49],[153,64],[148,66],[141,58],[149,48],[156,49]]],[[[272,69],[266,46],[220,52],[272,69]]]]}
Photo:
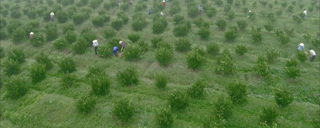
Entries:
{"type": "MultiPolygon", "coordinates": [[[[45,21],[41,15],[36,14],[34,19],[30,19],[23,14],[24,8],[39,8],[40,6],[47,6],[46,11],[51,11],[56,5],[60,5],[61,10],[67,11],[70,6],[74,6],[76,11],[86,7],[91,10],[90,15],[80,24],[74,24],[71,18],[66,22],[59,23],[56,17],[53,23],[58,29],[58,38],[64,38],[65,34],[62,32],[62,25],[74,24],[75,33],[80,37],[81,30],[84,28],[91,28],[96,34],[96,39],[99,45],[108,43],[108,39],[103,37],[103,31],[111,28],[111,21],[117,18],[117,13],[121,11],[123,4],[120,0],[120,6],[104,8],[105,3],[115,3],[115,0],[101,0],[101,2],[94,7],[90,7],[93,1],[88,0],[86,5],[76,5],[79,0],[74,0],[72,4],[63,5],[62,3],[68,0],[0,0],[1,11],[8,10],[8,14],[1,13],[1,20],[5,20],[6,24],[14,19],[10,16],[10,8],[15,5],[20,7],[21,16],[17,18],[24,25],[31,21],[37,20],[40,22],[39,30],[34,32],[45,34],[45,25],[52,21],[45,21]],[[43,3],[40,3],[43,1],[43,3]],[[53,1],[53,4],[48,2],[53,1]],[[29,2],[29,4],[27,4],[29,2]],[[8,4],[9,7],[5,7],[8,4]],[[98,15],[100,10],[106,11],[106,15],[110,17],[110,21],[104,23],[103,26],[97,27],[92,24],[93,17],[98,15]]],[[[70,0],[72,1],[72,0],[70,0]]],[[[259,115],[262,113],[263,107],[272,107],[278,112],[276,118],[277,127],[317,127],[314,123],[318,123],[319,117],[319,47],[311,43],[313,39],[319,39],[319,1],[318,0],[278,0],[274,4],[274,0],[265,0],[273,6],[263,6],[259,0],[233,0],[232,4],[228,4],[227,0],[222,0],[223,4],[217,5],[215,0],[178,0],[181,9],[177,14],[184,15],[184,18],[192,22],[191,30],[184,37],[175,37],[173,28],[173,15],[169,14],[172,1],[166,2],[166,7],[161,10],[164,13],[166,21],[168,22],[164,32],[159,34],[152,33],[152,18],[158,15],[159,12],[151,12],[147,14],[147,10],[153,10],[153,3],[155,0],[134,0],[133,5],[124,11],[128,15],[127,23],[116,30],[115,36],[122,39],[126,45],[132,44],[127,35],[134,32],[131,28],[132,15],[135,11],[135,6],[144,3],[146,7],[140,10],[141,14],[145,16],[146,26],[136,33],[141,35],[140,39],[148,42],[148,51],[144,51],[142,58],[137,61],[128,61],[124,57],[100,57],[94,55],[93,47],[87,47],[84,54],[76,54],[71,49],[71,44],[67,44],[62,49],[58,50],[52,46],[54,41],[44,41],[43,45],[34,47],[30,44],[28,33],[25,31],[25,37],[20,42],[14,42],[11,38],[13,35],[8,34],[7,37],[1,37],[1,84],[0,84],[0,126],[1,127],[156,127],[156,111],[162,106],[166,107],[168,104],[169,95],[175,90],[185,91],[198,79],[205,79],[207,85],[203,98],[189,98],[188,106],[183,110],[174,110],[176,115],[172,127],[203,127],[210,116],[214,112],[214,104],[219,95],[227,96],[226,87],[230,81],[243,80],[247,83],[247,102],[243,104],[232,104],[232,114],[224,122],[224,127],[259,127],[259,115]],[[203,14],[195,17],[188,16],[188,1],[194,1],[196,8],[198,5],[203,6],[212,5],[216,8],[216,14],[213,17],[208,17],[203,8],[203,14]],[[239,6],[235,3],[238,1],[239,6]],[[252,3],[256,2],[256,6],[252,3]],[[140,3],[141,2],[141,3],[140,3]],[[281,3],[287,2],[287,6],[292,5],[292,12],[287,11],[287,6],[282,7],[281,3]],[[224,11],[225,6],[230,5],[231,10],[234,11],[233,19],[228,19],[227,12],[224,11]],[[224,32],[232,25],[236,25],[237,20],[247,19],[247,12],[243,12],[243,8],[247,8],[255,12],[254,20],[246,20],[248,26],[244,30],[237,30],[237,36],[232,41],[226,41],[224,32]],[[310,8],[313,11],[310,11],[310,8]],[[300,24],[292,19],[292,15],[297,15],[303,12],[303,8],[307,9],[305,19],[302,19],[300,24]],[[267,13],[275,13],[282,10],[280,16],[275,16],[275,21],[269,21],[266,16],[267,13]],[[207,39],[201,39],[197,35],[199,27],[197,27],[193,20],[201,17],[204,21],[210,23],[210,35],[207,39]],[[217,19],[225,19],[227,21],[226,28],[221,30],[217,28],[215,22],[217,19]],[[284,29],[293,28],[294,32],[289,35],[290,41],[287,44],[282,44],[276,37],[275,32],[267,31],[263,27],[263,23],[270,22],[275,28],[284,29]],[[251,39],[251,27],[261,27],[262,42],[253,43],[251,39]],[[310,40],[305,40],[303,34],[311,35],[310,40]],[[156,48],[151,46],[151,38],[161,36],[165,42],[172,44],[179,38],[189,39],[192,43],[191,47],[196,46],[205,47],[210,43],[217,43],[220,45],[220,53],[223,49],[228,49],[231,56],[234,58],[236,69],[232,74],[220,74],[214,71],[216,66],[216,59],[220,54],[212,55],[205,54],[205,62],[198,69],[190,69],[186,64],[186,56],[188,51],[179,52],[173,48],[173,59],[167,66],[160,66],[155,59],[156,48]],[[290,78],[285,74],[285,63],[290,56],[296,55],[297,45],[303,42],[306,51],[311,47],[316,52],[316,58],[313,62],[308,59],[304,62],[298,61],[297,67],[300,68],[301,76],[297,78],[290,78]],[[248,52],[244,55],[237,54],[234,49],[236,44],[246,44],[248,52]],[[256,70],[253,68],[256,65],[256,60],[259,55],[265,55],[265,52],[270,47],[274,47],[279,51],[279,56],[270,63],[270,70],[272,72],[269,78],[261,78],[256,70]],[[12,76],[4,73],[3,63],[8,59],[7,53],[16,48],[23,48],[25,54],[25,62],[20,63],[20,75],[29,77],[29,68],[35,62],[35,56],[40,52],[44,52],[52,59],[53,67],[46,71],[46,77],[39,82],[31,82],[27,84],[28,91],[20,98],[10,98],[7,91],[8,81],[12,76]],[[59,70],[58,62],[64,56],[71,56],[76,62],[76,70],[71,74],[77,77],[78,86],[63,87],[60,79],[64,74],[59,70]],[[103,67],[110,78],[111,85],[109,92],[104,96],[96,96],[92,93],[91,83],[85,77],[88,73],[88,67],[92,65],[100,65],[103,67]],[[135,67],[138,72],[139,83],[137,85],[122,86],[116,78],[116,74],[122,68],[135,67]],[[154,81],[155,72],[163,72],[168,77],[168,84],[164,89],[157,88],[154,81]],[[274,90],[280,88],[288,90],[294,96],[294,101],[287,107],[280,107],[276,104],[274,99],[274,90]],[[77,111],[75,107],[76,101],[81,95],[89,95],[96,100],[93,109],[83,114],[77,111]],[[120,121],[112,114],[114,102],[116,100],[127,98],[133,102],[134,115],[127,122],[120,121]]],[[[156,0],[160,2],[161,0],[156,0]]],[[[47,15],[49,17],[49,15],[47,15]]],[[[1,29],[8,31],[8,25],[2,26],[1,29]]],[[[90,42],[89,42],[90,43],[90,42]]],[[[319,43],[319,42],[317,42],[319,43]]],[[[119,47],[119,45],[118,45],[119,47]]],[[[110,49],[111,51],[111,49],[110,49]]],[[[111,53],[111,52],[110,52],[111,53]]],[[[124,52],[125,55],[125,52],[124,52]]]]}

